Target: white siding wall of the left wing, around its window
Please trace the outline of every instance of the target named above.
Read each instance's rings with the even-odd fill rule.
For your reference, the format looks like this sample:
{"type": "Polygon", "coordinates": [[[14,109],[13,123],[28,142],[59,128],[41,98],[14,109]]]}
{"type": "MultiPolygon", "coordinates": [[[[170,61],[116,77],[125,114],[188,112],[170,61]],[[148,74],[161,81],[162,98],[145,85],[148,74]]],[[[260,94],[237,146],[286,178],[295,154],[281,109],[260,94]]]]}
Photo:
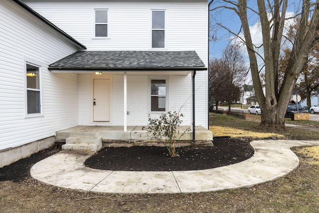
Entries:
{"type": "Polygon", "coordinates": [[[77,50],[11,1],[0,1],[0,150],[77,125],[77,75],[52,75],[48,64],[77,50]],[[44,116],[25,117],[25,57],[41,62],[44,116]]]}

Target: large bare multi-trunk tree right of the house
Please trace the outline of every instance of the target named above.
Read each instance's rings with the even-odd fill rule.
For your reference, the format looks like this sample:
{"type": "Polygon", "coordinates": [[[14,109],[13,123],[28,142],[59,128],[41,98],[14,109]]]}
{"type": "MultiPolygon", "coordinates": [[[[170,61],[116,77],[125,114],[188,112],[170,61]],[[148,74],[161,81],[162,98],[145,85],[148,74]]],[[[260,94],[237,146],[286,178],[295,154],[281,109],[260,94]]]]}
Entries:
{"type": "MultiPolygon", "coordinates": [[[[319,39],[319,0],[302,0],[301,9],[294,11],[295,17],[299,16],[295,40],[292,41],[291,55],[286,67],[282,85],[278,87],[278,61],[281,52],[286,12],[289,0],[257,0],[257,5],[247,5],[247,0],[217,0],[211,11],[216,25],[227,29],[234,37],[240,39],[246,46],[253,85],[257,100],[262,110],[260,127],[284,128],[285,112],[290,101],[290,97],[299,74],[303,71],[310,49],[319,39]],[[220,10],[231,9],[240,18],[241,28],[238,32],[233,32],[227,26],[217,20],[220,10]],[[257,50],[254,44],[250,25],[256,23],[258,18],[262,32],[263,54],[257,50]],[[243,36],[240,36],[240,34],[243,36]],[[260,83],[260,63],[257,58],[263,60],[263,70],[265,73],[266,94],[263,93],[260,83]]],[[[296,2],[296,1],[292,1],[296,2]]],[[[290,18],[294,18],[290,17],[290,18]]]]}

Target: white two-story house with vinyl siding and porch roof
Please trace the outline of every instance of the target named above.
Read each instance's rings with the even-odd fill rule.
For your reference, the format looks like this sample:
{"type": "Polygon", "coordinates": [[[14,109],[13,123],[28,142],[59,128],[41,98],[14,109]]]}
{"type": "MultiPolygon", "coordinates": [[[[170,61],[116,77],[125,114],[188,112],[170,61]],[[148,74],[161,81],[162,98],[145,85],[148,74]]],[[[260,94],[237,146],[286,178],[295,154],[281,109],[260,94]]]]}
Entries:
{"type": "Polygon", "coordinates": [[[0,1],[0,155],[173,110],[208,128],[207,0],[23,2],[0,1]]]}

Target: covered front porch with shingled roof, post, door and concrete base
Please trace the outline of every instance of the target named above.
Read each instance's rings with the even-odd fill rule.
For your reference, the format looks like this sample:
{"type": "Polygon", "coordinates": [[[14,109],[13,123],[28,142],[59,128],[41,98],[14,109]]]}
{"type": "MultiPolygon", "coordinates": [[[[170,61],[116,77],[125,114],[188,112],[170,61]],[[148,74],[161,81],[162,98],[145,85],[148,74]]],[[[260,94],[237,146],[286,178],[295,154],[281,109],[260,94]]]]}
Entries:
{"type": "Polygon", "coordinates": [[[65,142],[65,150],[73,145],[87,151],[102,146],[162,146],[147,135],[148,115],[168,111],[183,114],[185,127],[179,132],[191,126],[177,146],[212,145],[206,126],[207,68],[195,51],[78,51],[50,64],[49,70],[78,78],[74,105],[79,126],[56,132],[56,141],[65,142]],[[196,71],[202,71],[197,86],[196,71]]]}

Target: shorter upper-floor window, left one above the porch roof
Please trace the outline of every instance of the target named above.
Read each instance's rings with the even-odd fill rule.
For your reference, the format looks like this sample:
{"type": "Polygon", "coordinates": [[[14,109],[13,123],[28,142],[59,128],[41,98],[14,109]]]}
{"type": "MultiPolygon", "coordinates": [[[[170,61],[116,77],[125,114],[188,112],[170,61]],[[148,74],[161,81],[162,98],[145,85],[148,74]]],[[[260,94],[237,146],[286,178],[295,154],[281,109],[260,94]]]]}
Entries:
{"type": "Polygon", "coordinates": [[[94,37],[109,36],[108,9],[94,9],[94,37]]]}

